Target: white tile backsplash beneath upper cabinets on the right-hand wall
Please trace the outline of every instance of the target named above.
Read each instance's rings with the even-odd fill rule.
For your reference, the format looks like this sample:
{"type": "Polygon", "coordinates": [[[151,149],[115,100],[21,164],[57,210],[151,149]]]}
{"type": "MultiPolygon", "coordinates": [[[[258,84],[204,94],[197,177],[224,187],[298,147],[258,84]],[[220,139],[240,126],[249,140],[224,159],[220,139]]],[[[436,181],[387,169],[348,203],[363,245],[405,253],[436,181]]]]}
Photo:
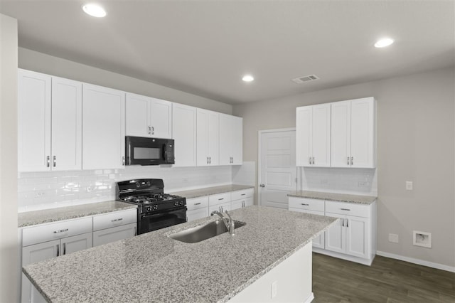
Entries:
{"type": "Polygon", "coordinates": [[[304,191],[378,195],[376,169],[299,167],[297,174],[304,191]]]}

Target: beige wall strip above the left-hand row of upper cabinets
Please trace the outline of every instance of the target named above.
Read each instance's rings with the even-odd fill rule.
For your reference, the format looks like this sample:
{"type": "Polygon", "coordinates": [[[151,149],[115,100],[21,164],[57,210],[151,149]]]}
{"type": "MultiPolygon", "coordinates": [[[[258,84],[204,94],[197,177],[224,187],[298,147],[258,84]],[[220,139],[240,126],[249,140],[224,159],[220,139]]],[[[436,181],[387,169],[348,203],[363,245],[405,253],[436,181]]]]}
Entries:
{"type": "Polygon", "coordinates": [[[192,95],[181,90],[157,85],[136,78],[112,73],[89,65],[75,63],[45,53],[38,53],[26,48],[19,48],[19,68],[34,70],[39,73],[56,75],[63,78],[112,87],[117,90],[134,92],[139,95],[156,97],[185,105],[232,114],[232,105],[192,95]]]}

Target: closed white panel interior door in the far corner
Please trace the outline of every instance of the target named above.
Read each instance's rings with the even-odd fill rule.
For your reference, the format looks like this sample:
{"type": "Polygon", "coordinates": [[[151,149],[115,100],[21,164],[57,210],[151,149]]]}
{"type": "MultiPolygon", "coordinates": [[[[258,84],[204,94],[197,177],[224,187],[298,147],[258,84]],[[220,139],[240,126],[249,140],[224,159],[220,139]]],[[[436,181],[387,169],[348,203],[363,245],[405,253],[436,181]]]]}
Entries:
{"type": "Polygon", "coordinates": [[[288,208],[287,194],[296,191],[296,132],[260,134],[260,205],[288,208]]]}

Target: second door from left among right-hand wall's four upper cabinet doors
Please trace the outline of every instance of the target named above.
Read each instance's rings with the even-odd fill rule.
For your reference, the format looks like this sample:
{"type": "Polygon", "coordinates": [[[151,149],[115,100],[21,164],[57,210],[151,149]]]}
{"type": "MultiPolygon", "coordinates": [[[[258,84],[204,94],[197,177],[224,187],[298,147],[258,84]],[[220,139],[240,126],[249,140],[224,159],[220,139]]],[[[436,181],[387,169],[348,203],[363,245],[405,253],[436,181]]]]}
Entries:
{"type": "Polygon", "coordinates": [[[311,140],[313,166],[330,166],[330,112],[330,104],[313,106],[313,134],[311,140]]]}

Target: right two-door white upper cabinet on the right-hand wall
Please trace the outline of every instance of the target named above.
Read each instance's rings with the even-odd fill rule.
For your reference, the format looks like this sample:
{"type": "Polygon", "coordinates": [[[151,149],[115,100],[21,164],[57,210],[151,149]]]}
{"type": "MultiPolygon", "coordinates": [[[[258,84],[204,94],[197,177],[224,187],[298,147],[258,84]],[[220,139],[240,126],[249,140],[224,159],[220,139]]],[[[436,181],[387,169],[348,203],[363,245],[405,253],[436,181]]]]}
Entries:
{"type": "Polygon", "coordinates": [[[331,121],[331,166],[375,168],[374,98],[332,103],[331,121]]]}

